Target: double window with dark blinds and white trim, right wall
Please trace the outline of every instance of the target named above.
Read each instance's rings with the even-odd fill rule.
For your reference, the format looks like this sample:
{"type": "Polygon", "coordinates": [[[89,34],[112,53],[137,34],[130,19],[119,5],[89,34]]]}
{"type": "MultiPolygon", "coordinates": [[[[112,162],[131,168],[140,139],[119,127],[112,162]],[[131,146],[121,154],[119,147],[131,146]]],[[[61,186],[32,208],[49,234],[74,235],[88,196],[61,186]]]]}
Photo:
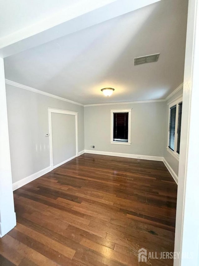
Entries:
{"type": "Polygon", "coordinates": [[[182,98],[169,105],[169,134],[167,150],[179,160],[182,120],[182,98]]]}

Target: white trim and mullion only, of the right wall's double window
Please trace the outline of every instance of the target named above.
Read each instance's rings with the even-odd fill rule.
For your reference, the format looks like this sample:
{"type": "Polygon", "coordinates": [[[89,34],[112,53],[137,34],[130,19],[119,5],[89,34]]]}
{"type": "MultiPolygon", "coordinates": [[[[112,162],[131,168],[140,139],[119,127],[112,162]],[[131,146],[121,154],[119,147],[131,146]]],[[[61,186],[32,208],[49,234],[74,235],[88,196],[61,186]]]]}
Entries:
{"type": "Polygon", "coordinates": [[[179,154],[177,152],[177,142],[178,142],[178,134],[177,134],[177,130],[178,130],[178,110],[179,110],[179,103],[181,103],[183,101],[183,97],[182,95],[180,95],[178,98],[176,98],[173,102],[169,103],[169,122],[170,122],[170,108],[172,106],[176,105],[176,118],[175,118],[175,142],[174,142],[174,151],[172,151],[172,149],[169,148],[169,122],[168,122],[168,137],[167,137],[167,151],[174,156],[174,158],[176,160],[179,161],[179,154]]]}

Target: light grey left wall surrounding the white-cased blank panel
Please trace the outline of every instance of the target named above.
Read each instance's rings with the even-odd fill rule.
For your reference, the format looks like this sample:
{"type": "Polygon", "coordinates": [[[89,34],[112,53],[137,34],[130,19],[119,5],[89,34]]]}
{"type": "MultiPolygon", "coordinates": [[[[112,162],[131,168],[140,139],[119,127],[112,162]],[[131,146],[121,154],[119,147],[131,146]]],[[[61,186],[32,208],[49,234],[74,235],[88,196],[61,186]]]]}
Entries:
{"type": "Polygon", "coordinates": [[[50,166],[48,109],[78,112],[78,148],[84,150],[84,107],[6,85],[12,181],[50,166]]]}

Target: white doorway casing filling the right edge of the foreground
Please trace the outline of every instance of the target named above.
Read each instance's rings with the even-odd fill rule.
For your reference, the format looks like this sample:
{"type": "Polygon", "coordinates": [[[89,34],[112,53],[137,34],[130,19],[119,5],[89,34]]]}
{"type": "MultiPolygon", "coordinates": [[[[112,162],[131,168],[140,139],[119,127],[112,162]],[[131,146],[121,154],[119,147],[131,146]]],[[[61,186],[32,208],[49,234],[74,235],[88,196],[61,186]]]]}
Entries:
{"type": "Polygon", "coordinates": [[[178,171],[174,266],[199,265],[199,1],[189,0],[178,171]]]}

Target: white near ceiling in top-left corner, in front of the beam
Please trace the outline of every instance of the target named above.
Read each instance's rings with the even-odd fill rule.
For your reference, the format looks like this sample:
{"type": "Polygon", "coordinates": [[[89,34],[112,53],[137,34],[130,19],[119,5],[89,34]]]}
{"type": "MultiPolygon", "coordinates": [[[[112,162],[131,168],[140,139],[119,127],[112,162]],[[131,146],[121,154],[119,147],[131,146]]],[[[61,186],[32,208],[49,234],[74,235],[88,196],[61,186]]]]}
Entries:
{"type": "MultiPolygon", "coordinates": [[[[116,0],[97,0],[96,2],[110,3],[116,0]]],[[[88,0],[6,0],[0,1],[0,38],[30,27],[49,17],[61,15],[72,8],[81,8],[88,0]]],[[[83,8],[82,8],[83,9],[83,8]]]]}

